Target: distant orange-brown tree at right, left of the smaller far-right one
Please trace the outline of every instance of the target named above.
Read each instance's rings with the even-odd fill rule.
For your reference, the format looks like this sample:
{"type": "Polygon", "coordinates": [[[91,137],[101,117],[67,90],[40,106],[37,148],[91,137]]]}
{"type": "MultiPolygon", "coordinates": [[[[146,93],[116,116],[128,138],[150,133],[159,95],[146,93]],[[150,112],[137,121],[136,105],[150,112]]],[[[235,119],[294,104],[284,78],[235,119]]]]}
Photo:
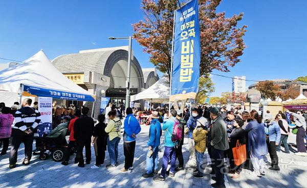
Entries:
{"type": "Polygon", "coordinates": [[[256,83],[256,90],[260,91],[263,98],[270,98],[275,101],[280,95],[280,87],[271,80],[259,81],[256,83]]]}

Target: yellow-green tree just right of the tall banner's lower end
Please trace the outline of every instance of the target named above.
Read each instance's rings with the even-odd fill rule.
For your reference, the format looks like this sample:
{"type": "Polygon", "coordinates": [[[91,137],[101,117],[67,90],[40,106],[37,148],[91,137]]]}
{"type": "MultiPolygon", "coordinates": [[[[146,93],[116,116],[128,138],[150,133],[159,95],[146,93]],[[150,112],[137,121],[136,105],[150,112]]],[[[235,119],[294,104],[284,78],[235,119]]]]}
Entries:
{"type": "Polygon", "coordinates": [[[211,80],[210,77],[200,77],[200,81],[199,81],[199,91],[196,94],[195,97],[195,103],[196,104],[203,104],[206,100],[206,98],[208,97],[208,95],[210,95],[211,93],[214,92],[214,83],[211,80]]]}

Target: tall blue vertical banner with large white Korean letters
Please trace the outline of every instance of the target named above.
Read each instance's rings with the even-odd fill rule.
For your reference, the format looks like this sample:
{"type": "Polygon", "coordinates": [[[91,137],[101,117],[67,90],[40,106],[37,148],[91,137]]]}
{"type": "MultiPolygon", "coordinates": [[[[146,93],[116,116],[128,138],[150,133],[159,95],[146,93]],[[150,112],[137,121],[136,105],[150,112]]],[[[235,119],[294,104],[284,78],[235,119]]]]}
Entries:
{"type": "Polygon", "coordinates": [[[200,78],[201,43],[198,0],[175,11],[170,100],[195,98],[200,78]]]}

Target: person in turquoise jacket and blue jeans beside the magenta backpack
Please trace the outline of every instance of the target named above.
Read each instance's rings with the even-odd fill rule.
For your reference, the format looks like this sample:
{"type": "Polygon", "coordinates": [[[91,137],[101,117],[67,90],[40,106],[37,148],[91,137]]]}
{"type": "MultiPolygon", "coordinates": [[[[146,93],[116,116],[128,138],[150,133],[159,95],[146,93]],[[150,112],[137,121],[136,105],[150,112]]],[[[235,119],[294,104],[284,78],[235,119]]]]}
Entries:
{"type": "Polygon", "coordinates": [[[163,154],[163,164],[161,174],[159,176],[153,178],[155,181],[165,181],[165,173],[167,170],[168,159],[170,159],[170,169],[169,176],[175,176],[175,166],[176,166],[176,151],[175,144],[171,140],[171,135],[173,132],[174,124],[179,123],[176,119],[177,111],[171,109],[169,113],[169,119],[163,124],[162,130],[165,131],[165,147],[163,154]]]}

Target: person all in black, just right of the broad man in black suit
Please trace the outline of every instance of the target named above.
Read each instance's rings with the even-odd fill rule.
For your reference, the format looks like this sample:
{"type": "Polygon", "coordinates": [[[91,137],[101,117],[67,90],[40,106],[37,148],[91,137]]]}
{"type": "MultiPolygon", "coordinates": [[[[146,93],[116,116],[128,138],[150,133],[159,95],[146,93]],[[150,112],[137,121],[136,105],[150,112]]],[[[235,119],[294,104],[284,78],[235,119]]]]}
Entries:
{"type": "Polygon", "coordinates": [[[99,114],[98,115],[99,123],[97,123],[94,128],[93,139],[92,139],[95,151],[97,151],[96,163],[95,165],[91,166],[91,169],[98,169],[104,163],[107,135],[108,135],[105,132],[106,124],[104,123],[104,120],[105,120],[104,114],[99,114]]]}

